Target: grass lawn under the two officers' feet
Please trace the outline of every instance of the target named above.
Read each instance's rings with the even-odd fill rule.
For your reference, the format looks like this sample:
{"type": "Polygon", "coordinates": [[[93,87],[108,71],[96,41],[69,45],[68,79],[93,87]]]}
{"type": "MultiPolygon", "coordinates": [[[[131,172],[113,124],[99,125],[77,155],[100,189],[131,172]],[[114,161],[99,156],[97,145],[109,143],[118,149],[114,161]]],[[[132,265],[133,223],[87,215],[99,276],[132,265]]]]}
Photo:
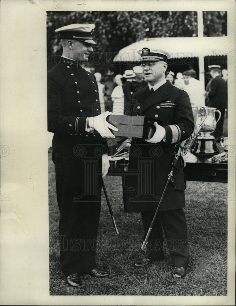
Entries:
{"type": "Polygon", "coordinates": [[[140,249],[142,222],[139,213],[125,213],[121,177],[106,176],[105,185],[119,235],[114,233],[105,197],[102,199],[98,233],[97,265],[110,272],[104,279],[86,275],[79,288],[68,287],[60,272],[58,221],[54,165],[49,166],[50,295],[227,295],[227,184],[187,182],[185,215],[188,225],[190,261],[187,275],[174,280],[170,256],[136,269],[133,263],[144,255],[140,249]]]}

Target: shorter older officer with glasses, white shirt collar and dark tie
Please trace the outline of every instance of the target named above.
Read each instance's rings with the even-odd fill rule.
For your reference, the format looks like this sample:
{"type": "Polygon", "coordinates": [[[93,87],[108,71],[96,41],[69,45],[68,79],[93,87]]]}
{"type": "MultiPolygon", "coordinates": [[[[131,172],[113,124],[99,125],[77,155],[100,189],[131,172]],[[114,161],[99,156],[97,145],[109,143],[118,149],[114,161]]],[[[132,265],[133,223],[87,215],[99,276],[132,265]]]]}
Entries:
{"type": "MultiPolygon", "coordinates": [[[[128,212],[141,212],[144,238],[154,217],[172,168],[175,144],[193,132],[194,119],[188,94],[165,79],[168,54],[163,50],[140,50],[140,64],[148,86],[133,93],[129,100],[131,114],[157,121],[149,140],[133,138],[129,151],[129,170],[125,177],[128,212]]],[[[178,168],[183,168],[178,165],[178,168]]],[[[164,259],[163,234],[173,264],[172,276],[183,278],[189,260],[183,170],[174,170],[174,182],[166,194],[148,239],[145,258],[135,267],[164,259]]]]}

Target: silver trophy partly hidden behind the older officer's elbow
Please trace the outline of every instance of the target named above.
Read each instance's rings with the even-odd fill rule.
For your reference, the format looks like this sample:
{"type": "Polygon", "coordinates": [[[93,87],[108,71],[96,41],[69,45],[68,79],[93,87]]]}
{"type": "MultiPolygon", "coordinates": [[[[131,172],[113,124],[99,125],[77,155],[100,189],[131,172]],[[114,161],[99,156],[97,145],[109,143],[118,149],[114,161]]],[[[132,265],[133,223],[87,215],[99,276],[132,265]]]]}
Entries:
{"type": "Polygon", "coordinates": [[[184,147],[181,153],[185,162],[196,162],[197,161],[197,157],[193,155],[193,153],[191,152],[191,147],[193,146],[198,136],[199,130],[201,129],[201,126],[206,120],[207,114],[208,114],[206,106],[192,106],[192,110],[193,110],[193,118],[194,118],[194,131],[192,135],[186,139],[186,142],[184,144],[184,147]],[[200,123],[199,123],[199,116],[198,116],[199,111],[202,111],[202,114],[203,114],[203,117],[200,123]]]}

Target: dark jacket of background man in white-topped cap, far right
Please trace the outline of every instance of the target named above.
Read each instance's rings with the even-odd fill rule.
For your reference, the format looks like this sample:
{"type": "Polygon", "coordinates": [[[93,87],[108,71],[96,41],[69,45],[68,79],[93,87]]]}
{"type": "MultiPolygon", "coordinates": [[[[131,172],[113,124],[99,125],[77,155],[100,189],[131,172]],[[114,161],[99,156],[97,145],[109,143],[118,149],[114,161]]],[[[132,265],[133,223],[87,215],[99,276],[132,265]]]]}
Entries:
{"type": "Polygon", "coordinates": [[[221,76],[216,76],[210,83],[208,107],[216,107],[218,110],[227,107],[226,86],[221,76]]]}

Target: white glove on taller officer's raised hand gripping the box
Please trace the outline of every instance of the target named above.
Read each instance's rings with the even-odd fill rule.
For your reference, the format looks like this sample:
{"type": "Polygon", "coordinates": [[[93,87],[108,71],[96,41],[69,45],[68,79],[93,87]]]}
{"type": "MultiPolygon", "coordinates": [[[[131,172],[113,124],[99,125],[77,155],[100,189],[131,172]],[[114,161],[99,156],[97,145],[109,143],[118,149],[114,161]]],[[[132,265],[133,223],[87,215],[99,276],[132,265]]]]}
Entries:
{"type": "Polygon", "coordinates": [[[98,131],[103,138],[115,138],[115,136],[109,129],[112,129],[114,131],[118,131],[118,129],[108,123],[106,120],[107,116],[112,114],[113,113],[106,111],[105,113],[102,113],[96,117],[90,117],[88,119],[89,127],[96,129],[96,131],[98,131]]]}

